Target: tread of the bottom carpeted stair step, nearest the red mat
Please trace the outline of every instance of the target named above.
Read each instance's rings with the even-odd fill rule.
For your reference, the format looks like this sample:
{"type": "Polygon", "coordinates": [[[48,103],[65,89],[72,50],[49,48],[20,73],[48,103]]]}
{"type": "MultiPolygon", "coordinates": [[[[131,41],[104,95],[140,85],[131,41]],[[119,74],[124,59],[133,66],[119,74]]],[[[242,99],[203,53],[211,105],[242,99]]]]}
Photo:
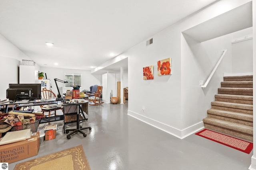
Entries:
{"type": "Polygon", "coordinates": [[[228,122],[220,119],[215,119],[212,117],[206,117],[203,119],[204,123],[210,124],[210,125],[215,125],[218,127],[226,128],[226,129],[232,129],[233,131],[238,131],[242,133],[246,133],[249,135],[253,134],[253,127],[252,126],[247,126],[247,125],[242,125],[238,123],[233,123],[233,122],[228,122]]]}

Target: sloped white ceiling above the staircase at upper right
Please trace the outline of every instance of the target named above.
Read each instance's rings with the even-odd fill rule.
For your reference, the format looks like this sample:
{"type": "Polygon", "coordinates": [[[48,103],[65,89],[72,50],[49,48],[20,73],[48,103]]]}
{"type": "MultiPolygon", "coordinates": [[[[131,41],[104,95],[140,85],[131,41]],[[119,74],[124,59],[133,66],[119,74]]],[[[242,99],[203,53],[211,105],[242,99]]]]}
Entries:
{"type": "Polygon", "coordinates": [[[183,33],[203,42],[249,27],[252,27],[252,2],[191,27],[183,33]],[[222,29],[219,29],[220,25],[222,29]]]}

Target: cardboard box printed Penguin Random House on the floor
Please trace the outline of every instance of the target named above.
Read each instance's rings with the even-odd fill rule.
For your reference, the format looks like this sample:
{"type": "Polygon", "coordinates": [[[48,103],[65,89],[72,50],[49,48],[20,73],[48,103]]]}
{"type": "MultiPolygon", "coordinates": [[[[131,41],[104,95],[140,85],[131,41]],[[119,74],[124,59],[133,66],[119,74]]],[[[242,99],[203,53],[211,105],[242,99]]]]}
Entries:
{"type": "Polygon", "coordinates": [[[40,142],[39,132],[26,141],[20,141],[0,146],[1,162],[16,162],[38,154],[40,142]]]}

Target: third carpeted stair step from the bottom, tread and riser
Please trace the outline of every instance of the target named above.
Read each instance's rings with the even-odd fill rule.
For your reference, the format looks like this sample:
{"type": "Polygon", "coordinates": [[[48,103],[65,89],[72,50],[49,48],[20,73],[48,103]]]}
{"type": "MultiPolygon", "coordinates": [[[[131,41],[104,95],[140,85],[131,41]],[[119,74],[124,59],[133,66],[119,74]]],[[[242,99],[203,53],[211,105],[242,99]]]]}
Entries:
{"type": "Polygon", "coordinates": [[[229,103],[229,102],[211,102],[212,109],[233,111],[238,113],[253,113],[253,106],[250,104],[237,104],[237,103],[229,103]]]}

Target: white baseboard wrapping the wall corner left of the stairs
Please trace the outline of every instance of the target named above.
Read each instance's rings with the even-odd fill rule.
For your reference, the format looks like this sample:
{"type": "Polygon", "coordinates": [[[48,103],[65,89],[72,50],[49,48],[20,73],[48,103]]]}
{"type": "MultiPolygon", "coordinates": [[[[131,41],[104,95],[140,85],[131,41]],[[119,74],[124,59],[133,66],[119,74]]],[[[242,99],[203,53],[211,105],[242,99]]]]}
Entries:
{"type": "Polygon", "coordinates": [[[164,123],[161,123],[161,122],[153,120],[153,119],[150,119],[148,117],[145,117],[143,115],[140,115],[140,114],[135,113],[130,110],[128,110],[128,115],[130,115],[144,123],[147,123],[153,127],[156,127],[166,133],[169,133],[175,137],[178,137],[179,139],[184,139],[185,137],[188,137],[189,135],[192,135],[192,134],[196,133],[197,131],[199,131],[200,129],[204,128],[204,123],[202,121],[199,123],[196,123],[195,125],[187,127],[186,129],[180,130],[180,129],[171,127],[169,125],[166,125],[164,123]]]}

